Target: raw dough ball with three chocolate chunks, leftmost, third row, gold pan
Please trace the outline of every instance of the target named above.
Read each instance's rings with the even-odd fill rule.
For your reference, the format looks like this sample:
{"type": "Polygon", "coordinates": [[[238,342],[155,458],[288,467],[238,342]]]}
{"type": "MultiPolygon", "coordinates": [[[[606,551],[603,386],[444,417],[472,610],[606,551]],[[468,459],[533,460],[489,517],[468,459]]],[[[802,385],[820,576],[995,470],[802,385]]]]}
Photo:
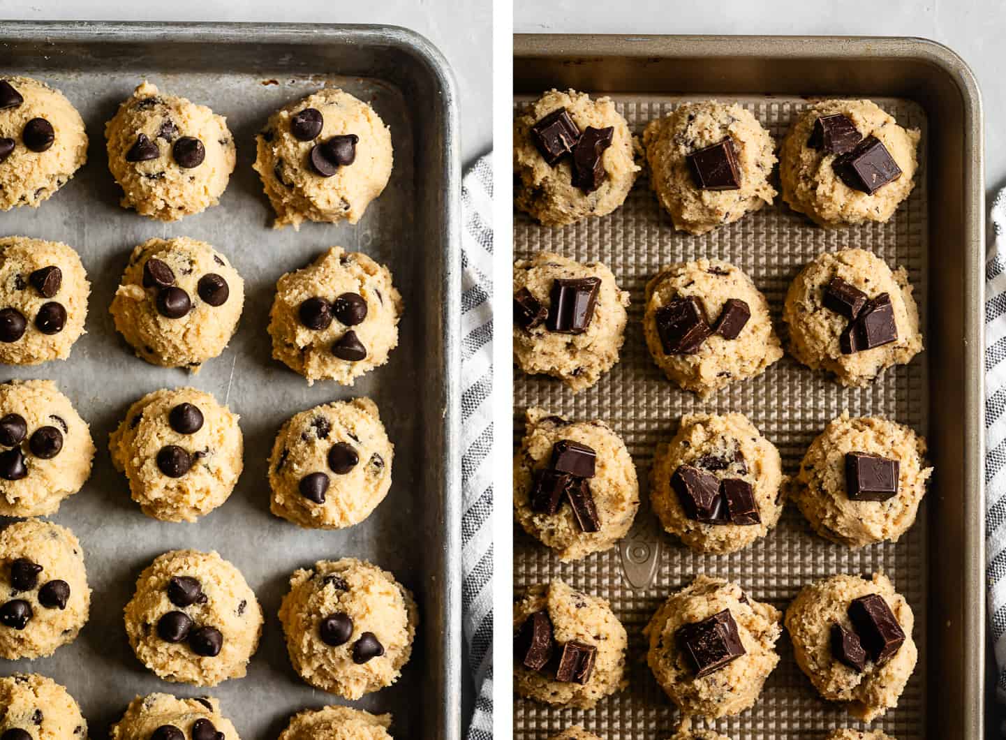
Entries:
{"type": "Polygon", "coordinates": [[[639,509],[636,467],[625,442],[604,421],[567,421],[542,408],[528,409],[524,440],[513,459],[513,509],[520,526],[561,560],[615,547],[639,509]],[[567,441],[593,450],[581,458],[594,457],[588,464],[593,475],[564,475],[569,467],[563,462],[556,472],[556,455],[567,441]],[[573,495],[566,493],[571,487],[573,495]]]}

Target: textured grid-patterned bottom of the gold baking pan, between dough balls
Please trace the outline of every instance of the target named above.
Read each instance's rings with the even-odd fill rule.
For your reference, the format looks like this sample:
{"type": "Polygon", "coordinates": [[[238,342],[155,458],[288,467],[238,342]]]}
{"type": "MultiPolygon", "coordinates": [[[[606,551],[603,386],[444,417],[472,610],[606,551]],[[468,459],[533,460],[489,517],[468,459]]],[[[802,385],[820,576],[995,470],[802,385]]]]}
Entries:
{"type": "MultiPolygon", "coordinates": [[[[665,116],[676,106],[698,97],[615,95],[612,98],[642,134],[645,124],[665,116]]],[[[807,101],[794,98],[729,98],[750,110],[781,142],[793,117],[807,101]]],[[[520,99],[518,102],[522,102],[520,99]]],[[[923,131],[920,159],[925,168],[926,120],[921,109],[902,100],[877,99],[899,124],[923,131]]],[[[778,189],[778,185],[777,185],[778,189]]],[[[908,366],[888,370],[878,382],[862,389],[846,389],[812,373],[787,355],[761,377],[734,384],[701,401],[665,380],[650,359],[643,339],[643,294],[647,280],[664,264],[699,257],[726,259],[746,271],[765,293],[777,331],[786,342],[781,315],[786,290],[797,271],[823,251],[863,247],[888,264],[903,265],[919,304],[924,322],[927,306],[927,193],[925,173],[908,200],[886,224],[844,230],[824,230],[791,211],[780,198],[776,205],[703,236],[675,232],[670,217],[654,198],[646,173],[640,176],[625,205],[610,216],[589,219],[562,229],[537,225],[524,214],[515,215],[515,256],[553,250],[581,261],[601,260],[615,272],[632,296],[629,326],[621,362],[601,381],[573,395],[557,380],[516,373],[514,439],[523,433],[523,411],[542,406],[571,418],[602,418],[618,431],[636,464],[643,507],[629,537],[606,553],[575,563],[561,564],[549,551],[523,532],[515,531],[514,587],[562,578],[573,586],[609,599],[629,632],[630,687],[592,711],[555,709],[526,699],[514,699],[514,736],[543,740],[578,723],[602,737],[664,738],[672,734],[677,711],[653,679],[646,665],[642,629],[667,594],[697,573],[739,582],[754,597],[785,609],[809,581],[836,573],[869,573],[883,569],[908,600],[915,613],[914,637],[919,661],[898,707],[888,711],[871,729],[881,729],[899,740],[925,734],[926,506],[918,521],[895,545],[883,544],[858,551],[831,544],[810,531],[794,506],[779,526],[751,548],[731,555],[693,553],[664,534],[648,511],[648,478],[653,450],[670,439],[678,419],[690,411],[746,414],[780,449],[784,471],[793,474],[810,441],[844,409],[852,415],[881,414],[908,424],[925,434],[928,407],[926,354],[908,366]]],[[[789,636],[777,648],[781,661],[756,706],[733,718],[712,723],[732,740],[824,737],[835,727],[864,729],[839,705],[822,701],[793,658],[789,636]]],[[[701,726],[701,722],[698,723],[701,726]]]]}

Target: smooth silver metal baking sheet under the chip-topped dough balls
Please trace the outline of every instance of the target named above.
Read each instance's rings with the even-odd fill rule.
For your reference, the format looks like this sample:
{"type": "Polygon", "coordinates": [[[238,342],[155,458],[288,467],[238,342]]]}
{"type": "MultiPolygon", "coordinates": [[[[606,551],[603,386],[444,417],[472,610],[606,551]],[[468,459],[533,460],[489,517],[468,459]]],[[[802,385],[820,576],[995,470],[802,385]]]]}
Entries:
{"type": "Polygon", "coordinates": [[[104,737],[138,694],[210,694],[242,738],[275,738],[304,708],[347,704],[315,691],[294,673],[277,617],[289,575],[323,558],[363,557],[392,571],[415,594],[420,628],[410,662],[392,687],[352,703],[391,712],[403,736],[460,736],[460,489],[454,465],[457,424],[459,160],[451,74],[430,43],[404,29],[253,24],[6,23],[4,74],[24,73],[61,89],[83,116],[89,162],[37,210],[0,214],[0,233],[64,241],[92,282],[88,334],[66,362],[4,368],[5,377],[54,380],[91,423],[98,446],[83,490],[53,521],[79,537],[94,597],[91,620],[70,645],[47,659],[3,662],[0,674],[33,671],[65,685],[80,703],[92,737],[104,737]],[[163,224],[119,206],[108,171],[104,127],[135,85],[211,107],[227,118],[237,165],[220,204],[163,224]],[[272,229],[255,159],[255,134],[280,106],[324,85],[369,102],[390,126],[394,169],[384,193],[355,226],[306,224],[272,229]],[[416,105],[418,104],[418,105],[416,105]],[[236,336],[198,375],[136,358],[116,333],[109,305],[135,244],[186,235],[226,253],[245,282],[236,336]],[[360,250],[389,265],[405,313],[387,365],[346,388],[308,387],[271,359],[266,332],[277,279],[328,246],[360,250]],[[244,472],[230,499],[196,524],[149,519],[112,467],[109,433],[128,405],[161,387],[191,384],[240,415],[244,472]],[[416,394],[415,389],[423,392],[416,394]],[[362,524],[344,531],[302,530],[269,512],[266,459],[283,421],[331,399],[373,398],[395,445],[392,485],[362,524]],[[133,656],[123,607],[139,572],[166,550],[215,549],[233,562],[266,614],[246,678],[214,689],[158,680],[133,656]]]}

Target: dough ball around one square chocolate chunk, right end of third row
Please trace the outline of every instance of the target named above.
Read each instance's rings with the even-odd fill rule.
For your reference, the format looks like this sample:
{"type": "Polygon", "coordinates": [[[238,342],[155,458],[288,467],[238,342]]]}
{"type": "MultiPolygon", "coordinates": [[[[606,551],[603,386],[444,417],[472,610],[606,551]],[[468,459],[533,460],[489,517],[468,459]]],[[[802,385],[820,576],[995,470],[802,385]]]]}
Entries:
{"type": "Polygon", "coordinates": [[[926,439],[912,429],[878,416],[850,418],[845,412],[811,442],[791,496],[819,535],[864,547],[884,540],[897,542],[914,524],[931,475],[926,439]],[[895,491],[889,498],[849,497],[847,455],[855,452],[896,460],[895,491]]]}

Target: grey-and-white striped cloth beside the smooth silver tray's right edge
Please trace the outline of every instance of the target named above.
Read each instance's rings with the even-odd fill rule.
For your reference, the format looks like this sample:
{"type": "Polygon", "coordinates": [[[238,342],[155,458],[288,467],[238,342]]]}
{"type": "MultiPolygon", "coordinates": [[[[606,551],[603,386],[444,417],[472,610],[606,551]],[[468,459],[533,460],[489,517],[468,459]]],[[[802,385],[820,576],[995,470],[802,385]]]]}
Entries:
{"type": "Polygon", "coordinates": [[[475,676],[469,740],[493,736],[493,170],[492,155],[465,174],[461,189],[462,608],[475,676]]]}

